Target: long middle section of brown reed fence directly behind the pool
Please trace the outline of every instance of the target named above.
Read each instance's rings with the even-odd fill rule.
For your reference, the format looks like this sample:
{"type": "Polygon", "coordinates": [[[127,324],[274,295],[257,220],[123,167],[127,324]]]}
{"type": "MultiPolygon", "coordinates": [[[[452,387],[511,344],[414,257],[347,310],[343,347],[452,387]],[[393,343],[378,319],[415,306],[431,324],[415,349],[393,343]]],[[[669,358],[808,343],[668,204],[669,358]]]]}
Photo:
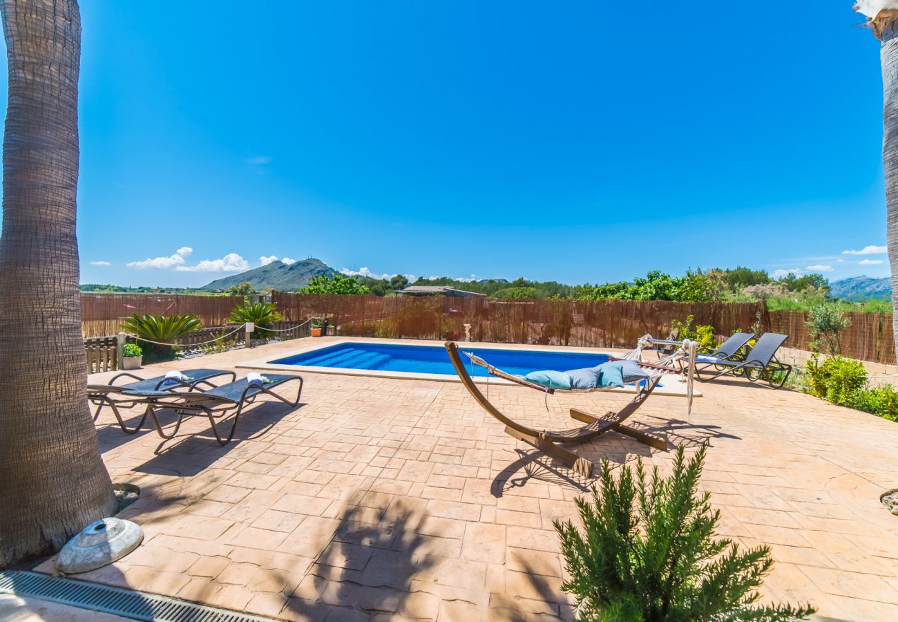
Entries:
{"type": "Polygon", "coordinates": [[[479,342],[629,347],[646,333],[663,335],[673,320],[694,315],[718,333],[747,330],[766,318],[763,303],[632,300],[495,300],[490,298],[272,294],[287,321],[326,315],[339,334],[392,339],[463,339],[470,324],[479,342]]]}

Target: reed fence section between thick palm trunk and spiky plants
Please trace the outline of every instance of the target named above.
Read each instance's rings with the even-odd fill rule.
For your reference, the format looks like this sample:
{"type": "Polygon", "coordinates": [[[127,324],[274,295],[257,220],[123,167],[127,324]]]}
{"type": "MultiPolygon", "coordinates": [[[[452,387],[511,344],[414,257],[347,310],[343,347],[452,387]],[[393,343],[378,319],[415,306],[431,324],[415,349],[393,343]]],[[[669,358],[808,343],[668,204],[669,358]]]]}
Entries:
{"type": "Polygon", "coordinates": [[[204,326],[228,323],[240,296],[187,296],[183,294],[89,294],[81,295],[81,333],[84,337],[116,334],[121,321],[137,315],[196,315],[204,326]]]}

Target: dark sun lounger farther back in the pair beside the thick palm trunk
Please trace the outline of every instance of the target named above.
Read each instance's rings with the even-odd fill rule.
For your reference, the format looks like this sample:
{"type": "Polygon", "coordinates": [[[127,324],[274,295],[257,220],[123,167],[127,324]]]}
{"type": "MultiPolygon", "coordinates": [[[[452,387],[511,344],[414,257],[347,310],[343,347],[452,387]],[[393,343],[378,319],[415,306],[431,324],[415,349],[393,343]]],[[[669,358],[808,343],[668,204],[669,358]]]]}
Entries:
{"type": "Polygon", "coordinates": [[[134,434],[144,425],[147,413],[144,412],[144,416],[141,417],[140,422],[137,423],[136,427],[128,428],[128,426],[125,425],[125,421],[122,419],[121,413],[119,413],[119,407],[126,409],[132,408],[136,404],[139,404],[141,400],[134,399],[133,397],[130,399],[114,400],[112,399],[113,395],[122,396],[126,391],[173,391],[177,388],[187,388],[188,391],[202,391],[205,387],[215,387],[214,384],[209,382],[212,378],[218,378],[219,376],[230,376],[231,380],[237,378],[237,374],[233,371],[225,371],[223,369],[184,369],[180,373],[189,378],[189,381],[185,382],[177,378],[165,378],[164,376],[145,379],[135,376],[134,374],[129,374],[126,371],[114,376],[107,385],[88,385],[87,399],[91,404],[94,404],[97,407],[96,412],[93,413],[93,421],[97,421],[97,418],[100,416],[100,411],[104,406],[109,406],[112,409],[112,413],[115,414],[116,419],[119,420],[119,427],[121,430],[126,434],[134,434]],[[116,385],[115,381],[119,378],[131,378],[132,380],[135,380],[135,382],[116,385]]]}

